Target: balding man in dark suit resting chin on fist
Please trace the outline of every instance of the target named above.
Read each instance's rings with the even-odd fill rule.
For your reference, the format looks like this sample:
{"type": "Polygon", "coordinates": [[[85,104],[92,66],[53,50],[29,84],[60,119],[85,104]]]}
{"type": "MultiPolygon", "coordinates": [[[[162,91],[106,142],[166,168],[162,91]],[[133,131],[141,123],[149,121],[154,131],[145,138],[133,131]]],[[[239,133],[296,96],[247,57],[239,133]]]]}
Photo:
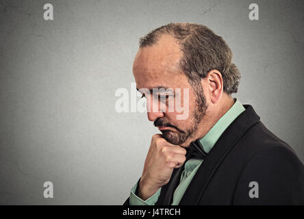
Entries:
{"type": "Polygon", "coordinates": [[[251,105],[231,97],[240,81],[231,59],[223,38],[203,25],[170,23],[140,39],[136,86],[162,134],[152,137],[125,205],[304,204],[303,164],[251,105]],[[172,99],[188,107],[187,118],[168,110],[172,99]]]}

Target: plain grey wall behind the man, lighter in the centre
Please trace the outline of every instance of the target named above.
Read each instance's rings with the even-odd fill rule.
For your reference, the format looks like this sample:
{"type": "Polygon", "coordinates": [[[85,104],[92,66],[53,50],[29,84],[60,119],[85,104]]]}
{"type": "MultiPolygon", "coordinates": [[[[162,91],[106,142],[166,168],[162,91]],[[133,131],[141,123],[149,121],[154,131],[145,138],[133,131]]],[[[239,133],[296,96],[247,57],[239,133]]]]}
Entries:
{"type": "Polygon", "coordinates": [[[117,113],[114,94],[134,82],[138,38],[169,22],[223,36],[242,74],[234,96],[303,161],[303,11],[300,0],[0,1],[0,204],[125,201],[157,129],[117,113]]]}

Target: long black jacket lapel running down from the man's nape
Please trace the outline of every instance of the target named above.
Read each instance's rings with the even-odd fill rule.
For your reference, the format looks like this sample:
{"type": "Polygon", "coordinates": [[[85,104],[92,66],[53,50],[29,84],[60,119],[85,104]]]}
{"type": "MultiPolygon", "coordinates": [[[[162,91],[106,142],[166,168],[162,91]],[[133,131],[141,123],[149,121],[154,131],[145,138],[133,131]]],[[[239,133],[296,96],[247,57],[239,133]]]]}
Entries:
{"type": "Polygon", "coordinates": [[[196,175],[193,177],[186,192],[183,194],[179,205],[197,205],[203,192],[207,188],[214,172],[240,137],[255,123],[259,122],[259,116],[251,105],[243,105],[245,111],[227,127],[222,136],[218,139],[214,147],[207,155],[196,175]]]}

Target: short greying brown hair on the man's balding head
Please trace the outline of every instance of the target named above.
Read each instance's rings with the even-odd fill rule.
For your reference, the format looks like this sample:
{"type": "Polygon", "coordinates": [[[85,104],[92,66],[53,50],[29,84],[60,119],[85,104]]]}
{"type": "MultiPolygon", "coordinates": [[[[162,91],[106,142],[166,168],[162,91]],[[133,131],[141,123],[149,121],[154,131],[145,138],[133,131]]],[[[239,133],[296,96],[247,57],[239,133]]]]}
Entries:
{"type": "Polygon", "coordinates": [[[140,48],[152,46],[163,34],[177,39],[183,51],[179,66],[192,86],[200,84],[210,70],[216,69],[222,74],[224,92],[229,95],[238,92],[240,71],[231,62],[231,49],[221,36],[204,25],[169,23],[140,38],[140,48]]]}

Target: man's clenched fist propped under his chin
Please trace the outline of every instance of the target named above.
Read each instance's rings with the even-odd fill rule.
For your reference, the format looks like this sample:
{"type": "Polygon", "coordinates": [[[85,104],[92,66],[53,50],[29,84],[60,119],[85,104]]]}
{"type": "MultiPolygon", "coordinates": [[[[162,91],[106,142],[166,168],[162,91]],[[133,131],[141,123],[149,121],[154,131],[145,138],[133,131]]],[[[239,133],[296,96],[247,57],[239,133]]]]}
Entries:
{"type": "Polygon", "coordinates": [[[162,135],[152,137],[149,152],[144,162],[144,170],[139,182],[138,196],[147,200],[163,185],[170,181],[174,168],[186,161],[186,149],[167,142],[162,135]]]}

